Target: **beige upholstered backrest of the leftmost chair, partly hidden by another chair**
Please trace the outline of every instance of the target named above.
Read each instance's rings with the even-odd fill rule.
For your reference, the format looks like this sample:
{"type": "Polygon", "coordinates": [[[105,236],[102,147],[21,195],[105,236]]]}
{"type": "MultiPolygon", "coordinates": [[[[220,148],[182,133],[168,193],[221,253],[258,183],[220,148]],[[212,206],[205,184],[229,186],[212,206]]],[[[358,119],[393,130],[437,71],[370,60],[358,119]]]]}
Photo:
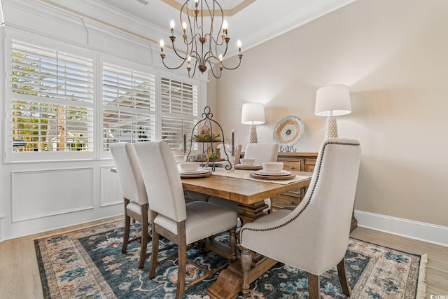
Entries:
{"type": "Polygon", "coordinates": [[[111,154],[116,165],[123,197],[140,205],[148,203],[143,176],[134,146],[127,142],[111,144],[111,154]]]}

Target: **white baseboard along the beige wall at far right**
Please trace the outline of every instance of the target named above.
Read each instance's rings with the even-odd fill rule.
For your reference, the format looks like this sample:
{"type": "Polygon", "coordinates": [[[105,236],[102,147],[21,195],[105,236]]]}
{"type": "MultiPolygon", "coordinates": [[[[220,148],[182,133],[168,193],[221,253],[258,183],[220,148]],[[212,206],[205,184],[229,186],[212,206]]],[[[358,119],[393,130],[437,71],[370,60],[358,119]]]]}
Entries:
{"type": "Polygon", "coordinates": [[[358,226],[448,246],[448,227],[355,210],[358,226]]]}

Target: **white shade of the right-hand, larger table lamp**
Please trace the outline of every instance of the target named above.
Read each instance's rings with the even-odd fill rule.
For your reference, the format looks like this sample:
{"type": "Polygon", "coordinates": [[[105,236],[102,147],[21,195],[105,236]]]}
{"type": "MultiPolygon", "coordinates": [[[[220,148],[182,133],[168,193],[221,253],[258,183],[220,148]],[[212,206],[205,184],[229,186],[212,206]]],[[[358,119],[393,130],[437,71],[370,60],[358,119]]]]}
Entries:
{"type": "Polygon", "coordinates": [[[343,116],[349,113],[351,102],[347,85],[328,85],[316,91],[316,116],[343,116]]]}

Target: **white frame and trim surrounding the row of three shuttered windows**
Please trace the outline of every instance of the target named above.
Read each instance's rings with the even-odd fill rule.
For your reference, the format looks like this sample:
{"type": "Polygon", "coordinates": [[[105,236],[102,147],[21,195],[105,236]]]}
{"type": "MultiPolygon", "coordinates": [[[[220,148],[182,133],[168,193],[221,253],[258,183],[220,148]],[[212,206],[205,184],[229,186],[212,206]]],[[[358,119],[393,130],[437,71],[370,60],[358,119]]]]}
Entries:
{"type": "MultiPolygon", "coordinates": [[[[195,85],[197,88],[197,119],[201,118],[205,103],[207,102],[207,81],[200,78],[188,78],[172,71],[159,69],[158,67],[148,66],[146,64],[125,60],[113,55],[102,53],[99,50],[89,48],[88,46],[75,46],[65,41],[51,39],[38,34],[29,34],[20,30],[10,29],[6,36],[6,53],[1,59],[6,62],[6,82],[5,92],[6,100],[3,107],[6,111],[6,118],[3,127],[3,153],[6,163],[10,162],[38,162],[38,161],[65,161],[65,160],[97,160],[111,159],[109,151],[103,151],[103,98],[102,98],[102,62],[116,64],[126,67],[127,69],[135,69],[148,74],[155,75],[155,137],[157,140],[162,139],[161,121],[161,78],[169,78],[174,81],[195,85]],[[92,151],[51,151],[51,152],[29,152],[29,153],[13,153],[12,146],[12,113],[11,105],[13,101],[13,92],[11,90],[12,80],[12,41],[18,40],[24,43],[41,46],[44,48],[56,49],[64,53],[88,57],[93,60],[93,150],[92,151]]],[[[187,134],[187,138],[189,138],[187,134]]]]}

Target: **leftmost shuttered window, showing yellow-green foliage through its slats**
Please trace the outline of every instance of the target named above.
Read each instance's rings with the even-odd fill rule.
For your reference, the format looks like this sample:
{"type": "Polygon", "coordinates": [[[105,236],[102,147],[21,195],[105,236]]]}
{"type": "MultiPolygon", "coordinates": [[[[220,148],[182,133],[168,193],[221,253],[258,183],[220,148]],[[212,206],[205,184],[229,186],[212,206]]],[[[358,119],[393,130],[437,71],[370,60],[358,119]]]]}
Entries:
{"type": "Polygon", "coordinates": [[[12,148],[92,151],[92,60],[12,43],[12,148]]]}

